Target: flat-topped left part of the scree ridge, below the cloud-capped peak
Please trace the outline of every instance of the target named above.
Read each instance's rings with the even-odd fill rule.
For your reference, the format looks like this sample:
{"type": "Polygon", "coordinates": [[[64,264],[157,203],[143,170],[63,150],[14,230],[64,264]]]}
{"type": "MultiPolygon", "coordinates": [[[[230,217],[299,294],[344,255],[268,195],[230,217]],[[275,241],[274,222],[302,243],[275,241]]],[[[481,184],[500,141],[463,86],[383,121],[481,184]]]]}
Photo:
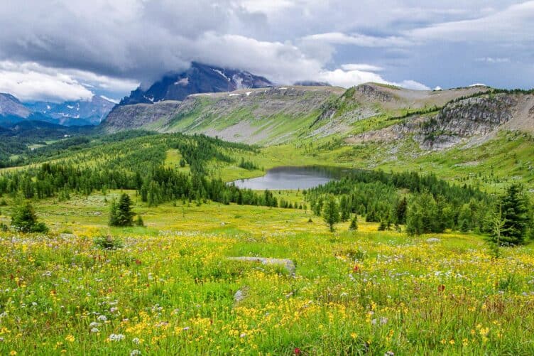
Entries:
{"type": "Polygon", "coordinates": [[[325,102],[343,92],[339,87],[269,87],[195,94],[182,102],[117,105],[102,128],[181,131],[273,144],[297,137],[321,114],[325,102]]]}

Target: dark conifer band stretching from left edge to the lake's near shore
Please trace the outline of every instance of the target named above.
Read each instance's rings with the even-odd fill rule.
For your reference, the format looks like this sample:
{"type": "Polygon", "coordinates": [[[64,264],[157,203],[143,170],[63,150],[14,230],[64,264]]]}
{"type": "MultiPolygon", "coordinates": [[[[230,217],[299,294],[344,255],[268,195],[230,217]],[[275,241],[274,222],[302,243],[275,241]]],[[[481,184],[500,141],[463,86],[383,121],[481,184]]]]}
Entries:
{"type": "Polygon", "coordinates": [[[0,177],[0,194],[22,193],[27,199],[67,198],[71,193],[89,195],[108,189],[137,190],[141,200],[152,206],[182,199],[278,207],[278,200],[268,190],[254,193],[220,179],[180,173],[163,166],[153,167],[148,172],[129,172],[43,163],[39,168],[0,177]]]}

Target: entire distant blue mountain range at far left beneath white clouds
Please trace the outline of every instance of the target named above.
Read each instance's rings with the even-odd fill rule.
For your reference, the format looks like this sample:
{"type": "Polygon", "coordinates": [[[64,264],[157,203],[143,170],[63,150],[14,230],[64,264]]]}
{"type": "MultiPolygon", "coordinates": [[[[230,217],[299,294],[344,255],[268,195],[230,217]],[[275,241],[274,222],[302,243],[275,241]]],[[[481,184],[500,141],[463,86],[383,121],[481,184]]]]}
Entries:
{"type": "Polygon", "coordinates": [[[48,122],[62,126],[98,125],[114,103],[94,96],[90,101],[23,103],[11,94],[0,93],[0,126],[19,122],[48,122]]]}

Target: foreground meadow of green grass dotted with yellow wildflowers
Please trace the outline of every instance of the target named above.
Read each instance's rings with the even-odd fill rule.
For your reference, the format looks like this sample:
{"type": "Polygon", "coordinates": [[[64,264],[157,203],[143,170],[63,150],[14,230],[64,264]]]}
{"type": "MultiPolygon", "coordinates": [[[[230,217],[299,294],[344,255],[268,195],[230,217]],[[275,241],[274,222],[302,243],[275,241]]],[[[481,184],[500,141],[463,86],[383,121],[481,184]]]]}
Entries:
{"type": "Polygon", "coordinates": [[[492,259],[474,234],[332,234],[309,210],[135,193],[146,227],[109,229],[118,193],[36,203],[46,236],[0,233],[1,355],[534,353],[531,244],[492,259]],[[291,259],[295,276],[241,256],[291,259]]]}

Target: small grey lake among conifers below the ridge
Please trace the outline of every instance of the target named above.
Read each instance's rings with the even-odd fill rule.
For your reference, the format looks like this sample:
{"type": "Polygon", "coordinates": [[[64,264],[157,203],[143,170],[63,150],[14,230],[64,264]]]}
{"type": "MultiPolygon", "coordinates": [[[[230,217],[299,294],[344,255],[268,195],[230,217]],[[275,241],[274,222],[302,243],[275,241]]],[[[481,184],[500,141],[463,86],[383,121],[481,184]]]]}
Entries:
{"type": "Polygon", "coordinates": [[[258,178],[234,180],[239,188],[253,190],[295,190],[317,187],[339,179],[350,169],[325,166],[277,167],[258,178]]]}

